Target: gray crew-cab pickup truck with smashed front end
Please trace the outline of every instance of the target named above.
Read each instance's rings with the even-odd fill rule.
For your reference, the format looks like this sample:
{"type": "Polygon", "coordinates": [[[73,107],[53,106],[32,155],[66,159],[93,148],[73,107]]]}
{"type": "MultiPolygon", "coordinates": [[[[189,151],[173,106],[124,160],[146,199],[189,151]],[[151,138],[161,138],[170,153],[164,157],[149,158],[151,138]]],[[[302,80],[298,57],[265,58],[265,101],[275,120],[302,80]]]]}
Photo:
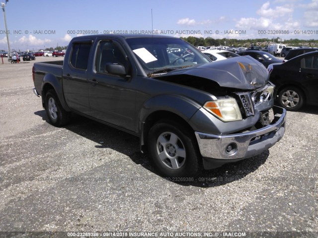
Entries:
{"type": "Polygon", "coordinates": [[[211,62],[174,37],[76,37],[64,61],[34,63],[33,81],[50,123],[77,113],[136,135],[170,178],[253,157],[285,131],[286,111],[273,105],[262,64],[211,62]]]}

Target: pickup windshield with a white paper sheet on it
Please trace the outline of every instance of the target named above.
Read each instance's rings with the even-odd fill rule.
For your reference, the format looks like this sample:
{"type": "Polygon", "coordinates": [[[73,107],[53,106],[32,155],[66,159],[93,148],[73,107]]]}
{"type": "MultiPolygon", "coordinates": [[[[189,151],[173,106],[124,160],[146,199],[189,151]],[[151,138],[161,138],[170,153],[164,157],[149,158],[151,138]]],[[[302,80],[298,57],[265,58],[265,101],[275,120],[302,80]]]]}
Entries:
{"type": "Polygon", "coordinates": [[[192,45],[178,38],[129,38],[127,42],[147,74],[210,62],[192,45]]]}

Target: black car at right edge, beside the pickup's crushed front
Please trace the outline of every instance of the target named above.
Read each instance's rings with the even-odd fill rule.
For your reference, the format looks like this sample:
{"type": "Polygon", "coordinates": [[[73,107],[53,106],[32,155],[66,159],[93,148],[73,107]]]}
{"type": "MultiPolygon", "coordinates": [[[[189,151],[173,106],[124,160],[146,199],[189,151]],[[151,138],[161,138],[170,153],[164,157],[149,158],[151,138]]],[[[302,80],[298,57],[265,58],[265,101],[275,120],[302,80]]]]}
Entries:
{"type": "Polygon", "coordinates": [[[279,106],[298,111],[304,104],[318,105],[318,51],[271,66],[279,106]]]}

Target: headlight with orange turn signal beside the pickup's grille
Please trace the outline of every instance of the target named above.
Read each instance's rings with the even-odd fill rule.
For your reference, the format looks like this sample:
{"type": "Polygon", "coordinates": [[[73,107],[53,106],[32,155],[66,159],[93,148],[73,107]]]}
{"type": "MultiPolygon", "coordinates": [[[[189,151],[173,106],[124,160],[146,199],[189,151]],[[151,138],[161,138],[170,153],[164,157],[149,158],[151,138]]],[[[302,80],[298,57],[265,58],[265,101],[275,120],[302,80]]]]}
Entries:
{"type": "Polygon", "coordinates": [[[234,98],[206,102],[203,107],[218,119],[226,122],[242,119],[238,103],[234,98]]]}

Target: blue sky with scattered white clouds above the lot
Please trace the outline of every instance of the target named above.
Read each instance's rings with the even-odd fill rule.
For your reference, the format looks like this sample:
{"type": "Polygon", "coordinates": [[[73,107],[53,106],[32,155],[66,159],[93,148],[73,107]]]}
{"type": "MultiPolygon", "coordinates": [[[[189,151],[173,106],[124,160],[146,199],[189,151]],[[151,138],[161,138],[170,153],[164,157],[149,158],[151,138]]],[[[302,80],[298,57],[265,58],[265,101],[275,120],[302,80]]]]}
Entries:
{"type": "MultiPolygon", "coordinates": [[[[9,0],[4,9],[16,51],[95,33],[318,40],[318,0],[9,0]]],[[[0,50],[7,51],[0,15],[0,50]]]]}

